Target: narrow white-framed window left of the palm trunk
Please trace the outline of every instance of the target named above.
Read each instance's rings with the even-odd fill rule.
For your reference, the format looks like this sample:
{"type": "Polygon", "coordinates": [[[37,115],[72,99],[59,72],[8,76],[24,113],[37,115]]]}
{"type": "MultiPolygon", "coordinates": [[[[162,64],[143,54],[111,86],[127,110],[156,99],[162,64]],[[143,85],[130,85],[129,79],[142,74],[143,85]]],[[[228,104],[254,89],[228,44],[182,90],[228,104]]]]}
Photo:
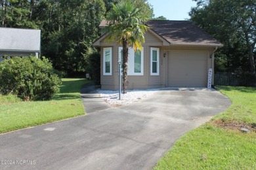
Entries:
{"type": "Polygon", "coordinates": [[[103,75],[112,75],[112,48],[103,48],[103,75]]]}

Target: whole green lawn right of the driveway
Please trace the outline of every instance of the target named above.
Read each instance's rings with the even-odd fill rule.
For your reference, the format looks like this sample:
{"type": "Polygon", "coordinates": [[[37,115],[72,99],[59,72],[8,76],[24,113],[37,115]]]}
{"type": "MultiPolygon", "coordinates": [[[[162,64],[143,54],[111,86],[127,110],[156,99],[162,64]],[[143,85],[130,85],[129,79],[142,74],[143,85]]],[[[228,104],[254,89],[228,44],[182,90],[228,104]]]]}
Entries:
{"type": "Polygon", "coordinates": [[[255,126],[256,88],[217,89],[230,98],[230,108],[181,137],[154,169],[256,169],[256,131],[237,126],[255,126]]]}

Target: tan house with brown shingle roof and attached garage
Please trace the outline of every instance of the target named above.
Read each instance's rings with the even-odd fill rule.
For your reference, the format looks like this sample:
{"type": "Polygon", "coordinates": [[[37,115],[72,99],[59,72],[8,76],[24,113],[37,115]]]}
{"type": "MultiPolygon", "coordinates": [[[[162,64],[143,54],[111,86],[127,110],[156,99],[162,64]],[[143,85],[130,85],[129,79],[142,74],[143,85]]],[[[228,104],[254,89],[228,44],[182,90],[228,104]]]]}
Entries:
{"type": "MultiPolygon", "coordinates": [[[[142,50],[129,49],[128,88],[207,87],[214,53],[223,44],[189,21],[150,20],[146,25],[150,28],[142,50]]],[[[122,46],[107,37],[102,35],[93,46],[100,48],[102,89],[117,90],[122,46]]]]}

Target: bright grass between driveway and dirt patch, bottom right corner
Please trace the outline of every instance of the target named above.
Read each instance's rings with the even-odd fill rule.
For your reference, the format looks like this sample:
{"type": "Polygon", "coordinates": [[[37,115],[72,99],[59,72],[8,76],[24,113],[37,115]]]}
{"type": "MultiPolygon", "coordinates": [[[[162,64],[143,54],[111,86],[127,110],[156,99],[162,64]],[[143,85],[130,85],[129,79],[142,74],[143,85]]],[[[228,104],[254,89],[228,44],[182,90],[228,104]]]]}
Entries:
{"type": "Polygon", "coordinates": [[[203,125],[182,137],[154,169],[255,169],[253,133],[203,125]]]}

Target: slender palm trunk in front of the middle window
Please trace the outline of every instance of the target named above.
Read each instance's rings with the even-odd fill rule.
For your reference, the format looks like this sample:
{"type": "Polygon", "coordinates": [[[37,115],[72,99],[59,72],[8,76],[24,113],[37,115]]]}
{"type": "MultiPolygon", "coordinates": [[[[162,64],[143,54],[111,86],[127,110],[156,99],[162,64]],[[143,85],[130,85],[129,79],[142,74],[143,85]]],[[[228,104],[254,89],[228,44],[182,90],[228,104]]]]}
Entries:
{"type": "Polygon", "coordinates": [[[127,39],[123,39],[123,93],[126,93],[128,81],[127,81],[127,73],[128,73],[128,41],[127,39]]]}

